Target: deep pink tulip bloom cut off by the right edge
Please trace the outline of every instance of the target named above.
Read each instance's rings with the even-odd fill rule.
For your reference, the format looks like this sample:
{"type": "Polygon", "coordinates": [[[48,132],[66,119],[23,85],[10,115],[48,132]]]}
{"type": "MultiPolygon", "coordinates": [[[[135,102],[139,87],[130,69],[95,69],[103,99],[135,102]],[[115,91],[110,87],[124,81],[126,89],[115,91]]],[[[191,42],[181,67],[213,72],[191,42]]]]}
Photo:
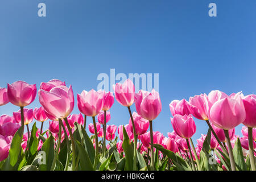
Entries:
{"type": "Polygon", "coordinates": [[[245,106],[246,118],[243,125],[247,127],[256,127],[256,95],[251,94],[243,97],[243,105],[245,106]]]}

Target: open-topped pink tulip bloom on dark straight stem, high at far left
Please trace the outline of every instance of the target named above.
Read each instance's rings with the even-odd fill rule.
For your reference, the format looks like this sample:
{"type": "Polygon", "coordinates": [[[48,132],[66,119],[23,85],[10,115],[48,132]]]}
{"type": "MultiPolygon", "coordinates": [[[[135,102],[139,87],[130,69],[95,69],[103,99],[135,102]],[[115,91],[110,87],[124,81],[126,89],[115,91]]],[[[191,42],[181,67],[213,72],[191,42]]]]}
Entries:
{"type": "Polygon", "coordinates": [[[35,100],[36,85],[27,84],[24,81],[15,81],[7,85],[7,96],[11,104],[24,107],[35,100]]]}

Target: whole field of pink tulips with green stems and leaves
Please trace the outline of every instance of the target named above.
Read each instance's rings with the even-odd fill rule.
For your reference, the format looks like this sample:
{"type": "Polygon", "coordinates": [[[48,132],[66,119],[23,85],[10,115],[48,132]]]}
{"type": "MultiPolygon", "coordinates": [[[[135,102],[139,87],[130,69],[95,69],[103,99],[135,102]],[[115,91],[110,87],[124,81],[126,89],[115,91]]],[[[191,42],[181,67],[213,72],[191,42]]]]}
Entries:
{"type": "Polygon", "coordinates": [[[256,170],[255,94],[228,95],[212,90],[188,101],[170,101],[167,127],[174,130],[164,136],[154,131],[154,119],[162,111],[158,92],[152,89],[135,93],[129,79],[115,84],[113,90],[83,90],[74,95],[71,85],[56,79],[42,82],[39,90],[24,81],[0,88],[0,108],[10,102],[18,110],[0,116],[0,170],[256,170]],[[41,106],[27,109],[36,96],[41,106]],[[127,107],[130,120],[125,125],[107,125],[114,118],[110,110],[116,101],[119,107],[127,107]],[[135,110],[131,110],[133,104],[135,110]],[[74,107],[80,113],[71,114],[74,107]],[[86,122],[91,117],[93,123],[86,122]],[[192,136],[203,131],[196,129],[194,118],[209,127],[207,134],[196,141],[192,136]],[[49,123],[46,130],[44,122],[49,123]],[[41,127],[37,128],[36,123],[41,127]],[[242,137],[235,134],[240,124],[242,137]]]}

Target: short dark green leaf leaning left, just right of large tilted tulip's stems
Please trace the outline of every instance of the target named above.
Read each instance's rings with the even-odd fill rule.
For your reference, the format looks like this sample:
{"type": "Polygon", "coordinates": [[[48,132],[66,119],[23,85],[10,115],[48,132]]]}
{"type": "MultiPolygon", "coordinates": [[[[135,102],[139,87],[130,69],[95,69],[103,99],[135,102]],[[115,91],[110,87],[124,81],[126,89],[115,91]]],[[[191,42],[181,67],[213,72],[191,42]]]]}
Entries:
{"type": "Polygon", "coordinates": [[[89,158],[88,153],[85,148],[81,145],[79,141],[76,140],[76,146],[79,150],[79,165],[82,171],[94,171],[92,162],[89,158]]]}

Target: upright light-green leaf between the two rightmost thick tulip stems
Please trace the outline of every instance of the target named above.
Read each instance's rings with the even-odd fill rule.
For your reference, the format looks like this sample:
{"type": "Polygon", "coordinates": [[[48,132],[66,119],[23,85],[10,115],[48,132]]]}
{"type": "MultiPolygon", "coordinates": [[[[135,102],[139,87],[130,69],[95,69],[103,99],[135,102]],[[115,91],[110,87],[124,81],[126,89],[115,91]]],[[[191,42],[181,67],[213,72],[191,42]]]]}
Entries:
{"type": "Polygon", "coordinates": [[[237,138],[237,141],[233,148],[234,161],[236,163],[236,167],[239,171],[246,171],[247,167],[245,164],[245,159],[243,158],[243,151],[240,139],[237,138]]]}

